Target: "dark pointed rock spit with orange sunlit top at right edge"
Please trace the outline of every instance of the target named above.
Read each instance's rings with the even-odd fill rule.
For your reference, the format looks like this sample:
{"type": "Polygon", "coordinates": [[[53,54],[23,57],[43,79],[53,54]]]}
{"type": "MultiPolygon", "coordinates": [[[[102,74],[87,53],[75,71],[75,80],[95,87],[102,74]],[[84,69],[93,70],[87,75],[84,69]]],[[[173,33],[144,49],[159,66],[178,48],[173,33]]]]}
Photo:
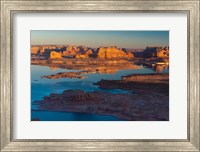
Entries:
{"type": "Polygon", "coordinates": [[[169,95],[169,74],[132,74],[122,80],[101,80],[95,85],[101,89],[124,89],[135,93],[169,95]]]}

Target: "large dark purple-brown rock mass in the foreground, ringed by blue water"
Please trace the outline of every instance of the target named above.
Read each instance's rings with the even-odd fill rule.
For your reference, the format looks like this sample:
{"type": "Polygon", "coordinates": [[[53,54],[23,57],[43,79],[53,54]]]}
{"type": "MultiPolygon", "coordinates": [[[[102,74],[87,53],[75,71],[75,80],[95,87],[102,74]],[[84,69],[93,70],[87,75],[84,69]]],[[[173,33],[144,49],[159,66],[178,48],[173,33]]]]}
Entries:
{"type": "Polygon", "coordinates": [[[169,96],[65,90],[34,101],[39,110],[105,114],[126,121],[168,121],[169,96]]]}

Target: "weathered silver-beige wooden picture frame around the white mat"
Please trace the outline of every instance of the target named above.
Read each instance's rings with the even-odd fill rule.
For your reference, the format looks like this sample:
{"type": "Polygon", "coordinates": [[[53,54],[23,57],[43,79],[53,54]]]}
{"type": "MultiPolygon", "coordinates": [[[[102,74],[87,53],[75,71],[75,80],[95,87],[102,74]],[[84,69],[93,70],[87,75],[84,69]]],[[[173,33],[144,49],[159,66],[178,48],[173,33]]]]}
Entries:
{"type": "Polygon", "coordinates": [[[199,0],[7,1],[1,0],[1,151],[200,151],[199,0]],[[13,15],[41,12],[185,12],[188,19],[188,138],[16,140],[13,135],[13,15]]]}

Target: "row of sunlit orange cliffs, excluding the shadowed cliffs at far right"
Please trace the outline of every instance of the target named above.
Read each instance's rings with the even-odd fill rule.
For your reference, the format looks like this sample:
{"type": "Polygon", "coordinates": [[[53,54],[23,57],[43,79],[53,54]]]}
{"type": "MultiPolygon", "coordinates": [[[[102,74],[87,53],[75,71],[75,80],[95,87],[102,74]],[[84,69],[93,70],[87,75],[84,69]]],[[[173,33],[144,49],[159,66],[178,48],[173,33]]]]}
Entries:
{"type": "MultiPolygon", "coordinates": [[[[89,57],[97,59],[132,59],[134,55],[116,46],[99,47],[97,50],[83,46],[32,46],[31,54],[46,56],[47,58],[54,58],[51,52],[61,53],[62,57],[71,56],[78,59],[86,59],[89,57]]],[[[56,53],[54,53],[56,54],[56,53]]],[[[58,58],[58,54],[57,57],[58,58]]]]}

